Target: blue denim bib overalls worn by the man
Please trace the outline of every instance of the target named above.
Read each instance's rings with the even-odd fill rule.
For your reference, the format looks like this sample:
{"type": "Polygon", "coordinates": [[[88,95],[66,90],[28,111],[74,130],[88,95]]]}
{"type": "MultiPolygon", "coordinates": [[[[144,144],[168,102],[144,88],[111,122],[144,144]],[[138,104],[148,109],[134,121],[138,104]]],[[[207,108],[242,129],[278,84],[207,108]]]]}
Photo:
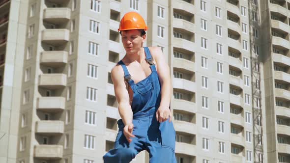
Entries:
{"type": "Polygon", "coordinates": [[[169,120],[161,123],[156,120],[156,111],[161,101],[161,85],[149,49],[144,49],[146,61],[152,71],[144,80],[134,83],[123,61],[118,62],[133,90],[131,108],[135,137],[131,137],[132,141],[128,143],[123,134],[124,124],[119,119],[115,147],[103,157],[104,163],[129,163],[143,150],[149,153],[150,163],[176,163],[174,126],[169,120]]]}

